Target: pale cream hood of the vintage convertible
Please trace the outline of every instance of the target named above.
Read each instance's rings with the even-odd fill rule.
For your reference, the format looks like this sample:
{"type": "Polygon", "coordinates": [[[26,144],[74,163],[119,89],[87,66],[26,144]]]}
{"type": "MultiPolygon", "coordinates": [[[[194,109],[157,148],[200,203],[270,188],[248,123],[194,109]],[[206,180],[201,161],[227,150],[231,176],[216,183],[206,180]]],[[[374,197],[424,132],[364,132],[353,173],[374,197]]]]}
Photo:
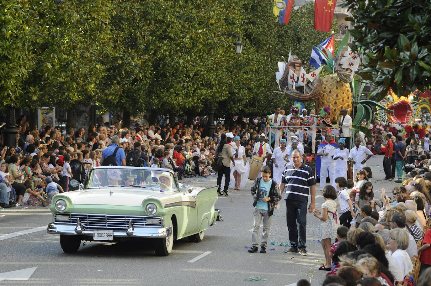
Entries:
{"type": "MultiPolygon", "coordinates": [[[[75,193],[75,192],[73,192],[75,193]]],[[[174,194],[171,192],[160,193],[156,190],[136,190],[126,188],[105,188],[97,190],[82,190],[69,196],[74,205],[126,205],[140,207],[145,199],[153,198],[161,200],[161,196],[174,194]]]]}

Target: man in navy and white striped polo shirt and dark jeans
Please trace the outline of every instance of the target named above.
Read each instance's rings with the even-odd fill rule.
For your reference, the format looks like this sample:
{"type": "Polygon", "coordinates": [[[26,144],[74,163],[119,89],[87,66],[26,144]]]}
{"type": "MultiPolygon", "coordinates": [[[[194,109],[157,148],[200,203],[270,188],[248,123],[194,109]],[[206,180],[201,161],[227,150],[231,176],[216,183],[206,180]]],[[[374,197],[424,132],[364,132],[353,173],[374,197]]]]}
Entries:
{"type": "Polygon", "coordinates": [[[290,155],[293,166],[287,165],[281,175],[280,191],[284,190],[286,201],[286,221],[289,233],[290,249],[286,253],[300,253],[307,256],[306,230],[307,230],[307,203],[311,195],[308,212],[314,210],[316,197],[314,173],[312,169],[301,162],[301,153],[295,149],[290,155]],[[299,249],[299,251],[298,251],[299,249]]]}

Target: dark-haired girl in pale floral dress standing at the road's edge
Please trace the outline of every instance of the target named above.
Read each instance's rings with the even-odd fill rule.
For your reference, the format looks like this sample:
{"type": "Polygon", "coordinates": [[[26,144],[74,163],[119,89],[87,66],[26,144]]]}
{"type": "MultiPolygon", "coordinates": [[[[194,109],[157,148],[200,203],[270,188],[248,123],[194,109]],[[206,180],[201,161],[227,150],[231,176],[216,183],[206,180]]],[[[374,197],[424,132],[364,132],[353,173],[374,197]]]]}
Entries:
{"type": "Polygon", "coordinates": [[[322,239],[322,249],[325,254],[325,264],[319,267],[319,270],[331,270],[331,257],[329,251],[331,250],[331,241],[337,237],[337,228],[340,226],[340,221],[337,214],[337,191],[331,185],[327,185],[322,190],[322,196],[325,202],[322,204],[322,212],[313,210],[316,218],[319,218],[317,226],[317,237],[322,239]],[[321,215],[319,215],[321,214],[321,215]]]}

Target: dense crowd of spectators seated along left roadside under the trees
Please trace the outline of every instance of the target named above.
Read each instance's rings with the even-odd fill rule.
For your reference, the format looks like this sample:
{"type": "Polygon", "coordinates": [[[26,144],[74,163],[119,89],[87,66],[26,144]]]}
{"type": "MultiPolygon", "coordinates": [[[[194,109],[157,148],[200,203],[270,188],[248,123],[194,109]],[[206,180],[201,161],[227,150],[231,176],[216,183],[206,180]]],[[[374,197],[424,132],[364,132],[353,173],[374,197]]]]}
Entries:
{"type": "MultiPolygon", "coordinates": [[[[249,128],[244,120],[237,121],[239,124],[231,128],[217,124],[213,136],[208,137],[203,136],[202,122],[195,120],[187,125],[180,120],[175,124],[148,126],[144,123],[131,128],[117,123],[99,124],[88,129],[78,127],[66,130],[47,125],[34,130],[27,118],[21,116],[16,123],[18,133],[15,146],[4,146],[4,136],[1,134],[0,207],[49,205],[47,185],[51,182],[58,183],[61,191],[78,189],[85,173],[101,165],[103,152],[114,137],[118,138],[116,143],[124,155],[133,150],[141,152],[144,167],[158,166],[178,171],[180,175],[188,171],[206,176],[212,172],[215,146],[222,133],[244,134],[241,145],[247,146],[246,155],[251,156],[249,151],[253,149],[253,138],[259,137],[262,130],[256,127],[259,122],[253,122],[249,128]]],[[[118,165],[125,164],[125,160],[119,160],[118,165]]]]}

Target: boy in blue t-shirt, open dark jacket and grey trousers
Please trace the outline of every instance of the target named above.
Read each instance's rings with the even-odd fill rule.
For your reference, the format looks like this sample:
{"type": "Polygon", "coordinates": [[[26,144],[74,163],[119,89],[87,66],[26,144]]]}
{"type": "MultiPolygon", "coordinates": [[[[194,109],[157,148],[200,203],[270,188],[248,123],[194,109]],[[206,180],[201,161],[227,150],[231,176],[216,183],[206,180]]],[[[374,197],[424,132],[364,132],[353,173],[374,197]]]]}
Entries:
{"type": "Polygon", "coordinates": [[[271,180],[271,169],[268,166],[262,167],[260,174],[261,178],[256,179],[251,187],[251,194],[254,199],[253,234],[251,236],[253,246],[248,252],[257,252],[259,246],[259,227],[263,219],[260,253],[266,253],[272,214],[274,214],[275,203],[281,199],[281,194],[277,183],[271,180]]]}

